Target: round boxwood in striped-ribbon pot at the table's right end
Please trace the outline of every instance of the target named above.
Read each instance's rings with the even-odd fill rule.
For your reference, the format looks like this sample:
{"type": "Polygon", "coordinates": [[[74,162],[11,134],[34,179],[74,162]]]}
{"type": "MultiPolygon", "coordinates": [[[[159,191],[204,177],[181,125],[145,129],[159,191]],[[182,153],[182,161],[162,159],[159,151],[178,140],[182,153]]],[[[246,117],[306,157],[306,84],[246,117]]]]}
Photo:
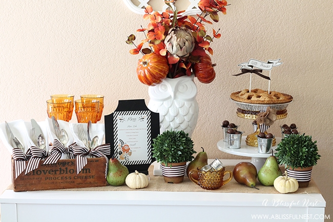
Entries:
{"type": "Polygon", "coordinates": [[[307,187],[313,166],[320,159],[317,141],[305,134],[290,134],[278,144],[275,156],[284,164],[288,176],[298,180],[299,187],[307,187]]]}

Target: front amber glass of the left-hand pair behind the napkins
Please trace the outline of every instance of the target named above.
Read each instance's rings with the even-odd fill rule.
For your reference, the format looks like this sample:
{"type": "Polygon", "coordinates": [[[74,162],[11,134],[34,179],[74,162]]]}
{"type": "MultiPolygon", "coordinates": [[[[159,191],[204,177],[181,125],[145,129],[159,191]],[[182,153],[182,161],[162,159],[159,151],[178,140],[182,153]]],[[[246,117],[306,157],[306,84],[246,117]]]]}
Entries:
{"type": "Polygon", "coordinates": [[[46,104],[49,118],[54,116],[56,119],[69,122],[71,117],[71,100],[64,99],[63,102],[54,102],[52,99],[48,99],[46,104]]]}

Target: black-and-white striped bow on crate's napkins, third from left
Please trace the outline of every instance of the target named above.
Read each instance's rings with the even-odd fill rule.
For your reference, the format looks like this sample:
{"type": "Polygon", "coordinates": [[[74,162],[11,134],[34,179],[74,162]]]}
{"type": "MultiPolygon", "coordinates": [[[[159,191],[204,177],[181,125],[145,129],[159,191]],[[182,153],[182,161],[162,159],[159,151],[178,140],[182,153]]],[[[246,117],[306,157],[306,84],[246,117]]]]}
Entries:
{"type": "Polygon", "coordinates": [[[49,151],[49,156],[45,159],[43,165],[57,163],[63,153],[67,154],[69,159],[74,159],[72,146],[73,144],[65,147],[58,139],[54,139],[52,149],[49,151]]]}

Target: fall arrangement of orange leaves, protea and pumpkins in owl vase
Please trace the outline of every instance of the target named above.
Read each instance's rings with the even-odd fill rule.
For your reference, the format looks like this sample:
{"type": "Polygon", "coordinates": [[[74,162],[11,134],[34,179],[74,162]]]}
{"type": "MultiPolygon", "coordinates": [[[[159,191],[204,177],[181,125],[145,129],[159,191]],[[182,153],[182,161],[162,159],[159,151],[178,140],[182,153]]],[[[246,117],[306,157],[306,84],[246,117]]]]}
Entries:
{"type": "Polygon", "coordinates": [[[131,34],[126,43],[134,45],[131,54],[141,53],[137,66],[137,75],[141,83],[154,86],[166,77],[177,78],[183,75],[195,75],[201,83],[211,83],[215,78],[214,66],[209,54],[214,38],[220,38],[218,31],[212,31],[213,37],[206,33],[205,24],[219,21],[218,12],[226,14],[227,2],[224,0],[200,0],[201,14],[196,17],[181,15],[177,11],[176,0],[166,1],[165,12],[154,12],[151,6],[145,7],[144,19],[149,19],[147,28],[138,29],[144,39],[136,45],[136,37],[131,34]],[[143,47],[148,45],[148,47],[143,47]]]}

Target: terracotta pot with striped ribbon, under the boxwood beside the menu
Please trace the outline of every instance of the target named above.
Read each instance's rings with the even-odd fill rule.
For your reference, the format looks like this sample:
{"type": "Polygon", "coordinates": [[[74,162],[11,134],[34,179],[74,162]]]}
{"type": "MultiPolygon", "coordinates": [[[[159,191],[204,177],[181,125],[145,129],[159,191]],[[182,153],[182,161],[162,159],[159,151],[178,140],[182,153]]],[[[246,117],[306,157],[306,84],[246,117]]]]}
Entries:
{"type": "Polygon", "coordinates": [[[186,162],[173,163],[164,165],[161,164],[162,175],[165,183],[179,184],[184,180],[186,162]],[[170,165],[172,167],[170,167],[170,165]]]}

